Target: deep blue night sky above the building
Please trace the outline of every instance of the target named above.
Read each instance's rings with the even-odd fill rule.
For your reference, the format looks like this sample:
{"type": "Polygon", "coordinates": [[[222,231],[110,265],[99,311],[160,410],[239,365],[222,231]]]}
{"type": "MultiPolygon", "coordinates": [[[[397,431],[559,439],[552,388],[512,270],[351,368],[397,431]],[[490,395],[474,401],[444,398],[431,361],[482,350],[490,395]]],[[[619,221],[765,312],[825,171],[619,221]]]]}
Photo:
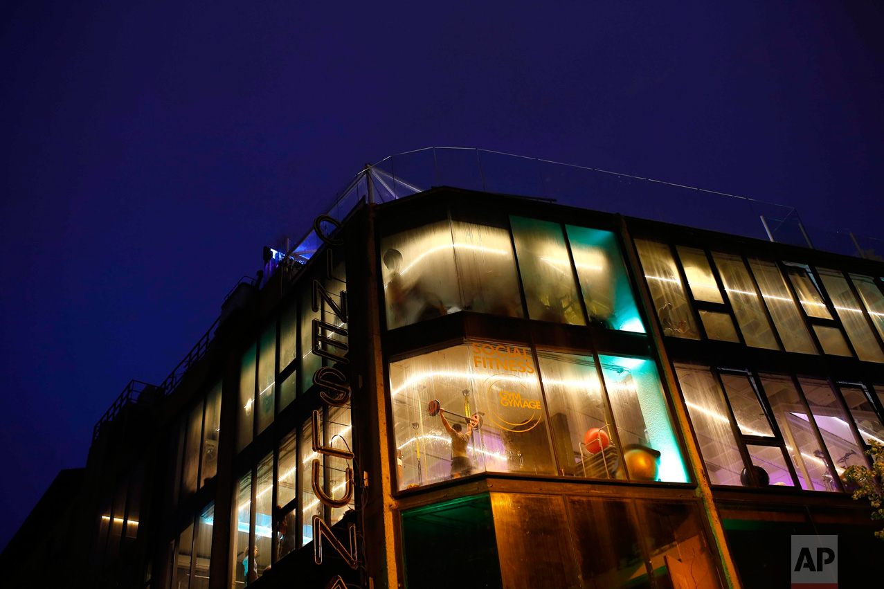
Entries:
{"type": "Polygon", "coordinates": [[[880,234],[876,0],[316,4],[0,8],[0,547],[365,162],[499,149],[880,234]]]}

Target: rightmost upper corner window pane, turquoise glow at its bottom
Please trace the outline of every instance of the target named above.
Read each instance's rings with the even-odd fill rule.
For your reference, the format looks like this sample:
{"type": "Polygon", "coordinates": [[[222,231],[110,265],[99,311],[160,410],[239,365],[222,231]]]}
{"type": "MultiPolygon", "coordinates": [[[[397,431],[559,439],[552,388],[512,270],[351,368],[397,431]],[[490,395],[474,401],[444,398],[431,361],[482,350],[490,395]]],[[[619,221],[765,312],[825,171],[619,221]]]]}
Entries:
{"type": "Polygon", "coordinates": [[[617,236],[573,225],[565,226],[565,230],[590,323],[644,333],[617,236]]]}

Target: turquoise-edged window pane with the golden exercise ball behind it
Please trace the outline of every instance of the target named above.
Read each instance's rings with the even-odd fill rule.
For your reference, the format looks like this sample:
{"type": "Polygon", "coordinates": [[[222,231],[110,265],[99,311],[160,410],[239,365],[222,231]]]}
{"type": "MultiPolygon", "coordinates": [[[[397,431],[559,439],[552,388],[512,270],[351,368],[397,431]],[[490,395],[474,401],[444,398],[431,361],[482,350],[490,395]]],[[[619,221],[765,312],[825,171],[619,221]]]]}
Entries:
{"type": "Polygon", "coordinates": [[[599,360],[629,478],[688,482],[654,362],[620,356],[599,360]]]}

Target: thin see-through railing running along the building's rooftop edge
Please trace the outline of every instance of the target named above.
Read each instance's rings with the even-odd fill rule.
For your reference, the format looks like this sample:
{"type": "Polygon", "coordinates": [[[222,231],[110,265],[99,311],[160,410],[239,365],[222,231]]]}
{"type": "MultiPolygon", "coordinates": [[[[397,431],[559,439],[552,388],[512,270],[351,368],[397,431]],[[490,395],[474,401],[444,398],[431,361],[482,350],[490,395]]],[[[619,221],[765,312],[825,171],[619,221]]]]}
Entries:
{"type": "MultiPolygon", "coordinates": [[[[415,149],[385,157],[377,164],[366,164],[331,199],[324,214],[343,222],[362,199],[369,203],[385,203],[438,186],[549,199],[584,209],[791,243],[848,256],[880,260],[884,253],[884,241],[880,239],[859,236],[849,230],[830,231],[805,226],[795,207],[582,165],[475,148],[415,149]]],[[[331,233],[332,227],[324,229],[331,233]]],[[[271,249],[271,259],[264,270],[264,283],[278,265],[287,264],[287,260],[291,260],[289,267],[295,269],[306,264],[320,245],[311,227],[301,239],[286,244],[286,251],[271,249]]],[[[239,283],[234,289],[238,286],[239,283]]],[[[156,387],[163,394],[171,394],[190,367],[205,355],[219,321],[220,317],[156,387]]],[[[143,389],[138,388],[140,385],[145,383],[133,380],[126,386],[95,424],[93,440],[101,426],[116,417],[126,402],[137,399],[143,389]]]]}

